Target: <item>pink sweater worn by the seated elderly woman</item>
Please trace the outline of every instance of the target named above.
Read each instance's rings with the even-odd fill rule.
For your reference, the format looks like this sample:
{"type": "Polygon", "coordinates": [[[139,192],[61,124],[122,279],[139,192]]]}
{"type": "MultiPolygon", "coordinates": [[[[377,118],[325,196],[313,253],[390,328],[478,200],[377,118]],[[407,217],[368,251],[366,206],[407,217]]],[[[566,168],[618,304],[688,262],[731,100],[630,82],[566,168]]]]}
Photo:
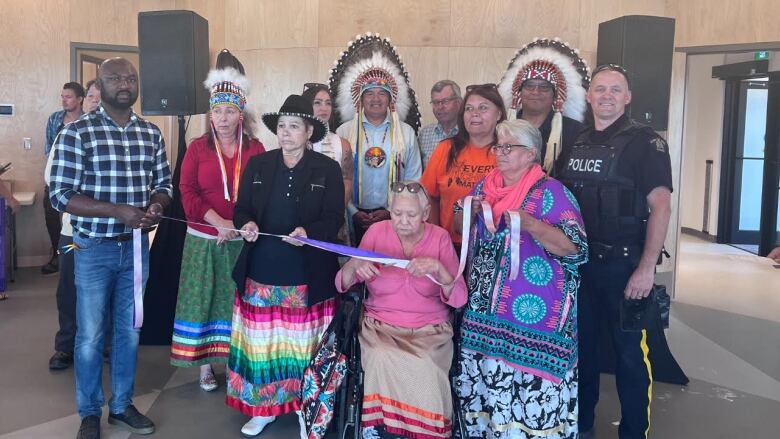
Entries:
{"type": "MultiPolygon", "coordinates": [[[[360,248],[405,259],[401,240],[390,220],[369,227],[360,248]]],[[[425,232],[412,251],[411,259],[417,257],[438,259],[450,274],[455,274],[458,269],[458,257],[449,233],[433,224],[425,224],[425,232]]],[[[412,276],[398,267],[383,266],[379,275],[368,281],[367,286],[366,313],[382,322],[404,328],[442,323],[449,318],[447,305],[460,308],[466,304],[466,283],[462,276],[456,279],[449,299],[444,298],[442,288],[428,277],[412,276]]],[[[341,293],[346,291],[341,285],[341,271],[336,275],[336,288],[341,293]]]]}

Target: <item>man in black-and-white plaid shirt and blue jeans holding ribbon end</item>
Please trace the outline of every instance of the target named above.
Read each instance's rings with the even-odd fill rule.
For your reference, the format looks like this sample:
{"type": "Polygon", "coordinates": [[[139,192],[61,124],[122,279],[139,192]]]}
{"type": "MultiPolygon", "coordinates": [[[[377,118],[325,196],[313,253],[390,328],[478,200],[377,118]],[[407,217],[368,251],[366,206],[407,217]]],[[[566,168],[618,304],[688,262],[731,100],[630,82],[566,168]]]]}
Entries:
{"type": "Polygon", "coordinates": [[[160,130],[135,114],[138,73],[123,58],[98,71],[102,106],[55,140],[50,200],[72,215],[76,278],[76,404],[79,438],[100,437],[102,351],[113,322],[108,422],[136,434],[154,424],[132,405],[139,330],[133,328],[132,231],[143,232],[143,284],[149,273],[146,232],[171,200],[170,168],[160,130]]]}

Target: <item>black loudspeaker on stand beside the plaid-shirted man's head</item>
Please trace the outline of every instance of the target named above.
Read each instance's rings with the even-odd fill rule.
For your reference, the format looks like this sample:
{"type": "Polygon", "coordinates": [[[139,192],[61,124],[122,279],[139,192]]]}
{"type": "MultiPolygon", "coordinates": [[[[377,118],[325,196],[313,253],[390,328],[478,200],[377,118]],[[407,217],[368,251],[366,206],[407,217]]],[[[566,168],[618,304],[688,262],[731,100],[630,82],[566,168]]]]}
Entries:
{"type": "Polygon", "coordinates": [[[141,112],[154,116],[205,113],[209,93],[209,24],[192,11],[138,14],[141,112]]]}

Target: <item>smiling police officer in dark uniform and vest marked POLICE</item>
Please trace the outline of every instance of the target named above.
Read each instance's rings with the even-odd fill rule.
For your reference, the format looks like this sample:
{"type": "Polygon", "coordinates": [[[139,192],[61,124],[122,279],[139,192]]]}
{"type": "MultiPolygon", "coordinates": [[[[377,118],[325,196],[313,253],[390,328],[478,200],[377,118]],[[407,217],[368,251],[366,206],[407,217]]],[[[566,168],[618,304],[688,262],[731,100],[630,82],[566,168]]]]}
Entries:
{"type": "Polygon", "coordinates": [[[669,150],[651,128],[625,114],[631,90],[622,67],[597,68],[587,101],[594,128],[583,132],[558,164],[560,180],[579,201],[591,251],[581,268],[578,296],[580,437],[593,437],[599,334],[606,325],[617,356],[619,437],[646,438],[653,382],[648,334],[625,327],[621,307],[644,306],[653,287],[671,214],[669,150]]]}

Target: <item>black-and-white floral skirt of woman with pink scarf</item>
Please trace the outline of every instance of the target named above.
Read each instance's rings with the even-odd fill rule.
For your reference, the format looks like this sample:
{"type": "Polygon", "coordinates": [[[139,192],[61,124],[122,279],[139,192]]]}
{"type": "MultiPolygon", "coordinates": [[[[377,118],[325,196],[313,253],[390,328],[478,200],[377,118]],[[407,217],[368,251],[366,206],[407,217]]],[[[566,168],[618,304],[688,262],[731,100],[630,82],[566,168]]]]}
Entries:
{"type": "Polygon", "coordinates": [[[473,351],[460,354],[456,379],[468,437],[577,437],[577,370],[558,383],[473,351]]]}

